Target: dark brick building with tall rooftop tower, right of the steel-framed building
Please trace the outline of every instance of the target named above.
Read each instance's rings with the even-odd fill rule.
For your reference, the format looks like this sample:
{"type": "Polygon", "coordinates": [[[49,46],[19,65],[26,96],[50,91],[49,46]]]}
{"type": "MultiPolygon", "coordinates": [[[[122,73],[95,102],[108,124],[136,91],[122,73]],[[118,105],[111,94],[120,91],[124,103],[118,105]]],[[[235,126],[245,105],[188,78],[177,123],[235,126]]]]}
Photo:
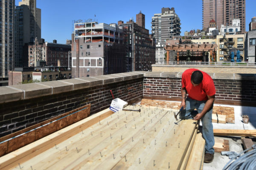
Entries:
{"type": "Polygon", "coordinates": [[[124,31],[126,72],[151,71],[151,65],[155,63],[155,47],[149,30],[145,29],[145,15],[140,12],[136,15],[136,23],[133,19],[126,23],[118,21],[118,26],[124,31]]]}

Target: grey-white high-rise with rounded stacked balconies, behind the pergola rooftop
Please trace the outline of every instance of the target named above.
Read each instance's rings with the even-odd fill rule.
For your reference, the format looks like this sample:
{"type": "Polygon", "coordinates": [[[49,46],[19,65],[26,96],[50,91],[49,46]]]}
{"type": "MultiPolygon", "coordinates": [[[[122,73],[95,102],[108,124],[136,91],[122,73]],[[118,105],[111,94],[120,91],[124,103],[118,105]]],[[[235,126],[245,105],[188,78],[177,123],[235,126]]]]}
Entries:
{"type": "Polygon", "coordinates": [[[180,35],[180,18],[175,13],[174,8],[162,8],[162,13],[154,14],[151,23],[151,32],[156,40],[156,62],[164,62],[166,61],[166,51],[164,49],[166,40],[180,35]]]}

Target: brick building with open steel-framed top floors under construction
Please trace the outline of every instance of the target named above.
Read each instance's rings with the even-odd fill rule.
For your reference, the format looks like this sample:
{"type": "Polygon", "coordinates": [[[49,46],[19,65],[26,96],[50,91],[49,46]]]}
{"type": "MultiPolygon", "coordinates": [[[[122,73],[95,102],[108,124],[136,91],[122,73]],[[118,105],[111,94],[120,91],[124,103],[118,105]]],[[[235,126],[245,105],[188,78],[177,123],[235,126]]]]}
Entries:
{"type": "Polygon", "coordinates": [[[123,31],[116,24],[75,23],[72,75],[90,77],[125,72],[123,31]]]}

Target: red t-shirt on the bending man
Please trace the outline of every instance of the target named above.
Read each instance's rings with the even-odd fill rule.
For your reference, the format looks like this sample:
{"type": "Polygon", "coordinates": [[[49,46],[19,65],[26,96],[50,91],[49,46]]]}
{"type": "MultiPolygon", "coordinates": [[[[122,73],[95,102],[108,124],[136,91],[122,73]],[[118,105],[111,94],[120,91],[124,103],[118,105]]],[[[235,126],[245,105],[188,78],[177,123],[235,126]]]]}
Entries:
{"type": "Polygon", "coordinates": [[[198,71],[198,69],[190,68],[183,72],[181,79],[182,88],[186,88],[189,98],[191,99],[198,101],[207,100],[207,95],[213,96],[216,93],[212,77],[204,71],[201,71],[203,80],[199,85],[194,86],[191,83],[191,75],[193,71],[198,71]]]}

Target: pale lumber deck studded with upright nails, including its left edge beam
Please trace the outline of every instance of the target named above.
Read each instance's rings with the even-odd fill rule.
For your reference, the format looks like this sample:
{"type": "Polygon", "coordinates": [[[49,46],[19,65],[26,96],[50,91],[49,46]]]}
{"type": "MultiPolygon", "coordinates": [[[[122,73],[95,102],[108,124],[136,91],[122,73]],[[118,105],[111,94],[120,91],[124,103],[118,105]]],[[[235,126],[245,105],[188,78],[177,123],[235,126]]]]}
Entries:
{"type": "Polygon", "coordinates": [[[141,112],[107,109],[96,113],[3,156],[0,168],[184,169],[196,139],[197,121],[176,122],[173,114],[178,110],[174,109],[126,108],[141,112]]]}

